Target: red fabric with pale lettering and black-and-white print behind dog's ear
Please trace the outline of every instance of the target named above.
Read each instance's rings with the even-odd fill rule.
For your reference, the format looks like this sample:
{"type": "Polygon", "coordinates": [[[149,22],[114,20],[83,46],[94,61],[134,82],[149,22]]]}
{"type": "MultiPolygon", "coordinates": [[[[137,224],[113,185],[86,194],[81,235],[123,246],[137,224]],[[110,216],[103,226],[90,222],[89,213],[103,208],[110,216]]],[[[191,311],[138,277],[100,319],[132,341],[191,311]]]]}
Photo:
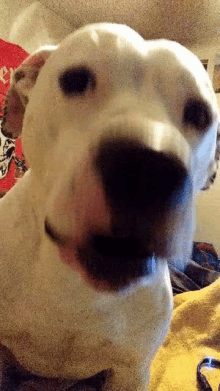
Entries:
{"type": "MultiPolygon", "coordinates": [[[[0,123],[12,72],[27,56],[28,53],[19,46],[0,39],[0,123]]],[[[6,138],[0,131],[0,197],[14,186],[26,170],[21,140],[6,138]]]]}

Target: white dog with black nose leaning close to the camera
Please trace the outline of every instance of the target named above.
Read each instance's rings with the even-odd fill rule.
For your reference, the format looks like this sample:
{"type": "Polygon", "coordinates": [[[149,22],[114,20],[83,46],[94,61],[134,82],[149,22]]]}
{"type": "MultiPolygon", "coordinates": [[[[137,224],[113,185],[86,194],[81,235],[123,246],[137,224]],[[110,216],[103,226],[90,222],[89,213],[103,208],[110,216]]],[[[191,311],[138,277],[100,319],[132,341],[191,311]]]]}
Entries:
{"type": "Polygon", "coordinates": [[[147,389],[167,333],[167,261],[191,254],[218,109],[200,61],[86,26],[15,72],[2,132],[30,169],[0,202],[2,344],[30,371],[147,389]]]}

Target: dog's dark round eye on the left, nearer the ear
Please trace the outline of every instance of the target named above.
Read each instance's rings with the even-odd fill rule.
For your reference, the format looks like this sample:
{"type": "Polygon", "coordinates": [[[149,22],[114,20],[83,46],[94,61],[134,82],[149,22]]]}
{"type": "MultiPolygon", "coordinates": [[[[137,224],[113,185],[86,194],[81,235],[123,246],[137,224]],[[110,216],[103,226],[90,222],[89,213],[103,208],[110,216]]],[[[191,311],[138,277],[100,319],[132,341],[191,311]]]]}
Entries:
{"type": "Polygon", "coordinates": [[[94,90],[96,78],[94,73],[84,67],[66,70],[59,79],[60,87],[67,96],[79,96],[94,90]]]}

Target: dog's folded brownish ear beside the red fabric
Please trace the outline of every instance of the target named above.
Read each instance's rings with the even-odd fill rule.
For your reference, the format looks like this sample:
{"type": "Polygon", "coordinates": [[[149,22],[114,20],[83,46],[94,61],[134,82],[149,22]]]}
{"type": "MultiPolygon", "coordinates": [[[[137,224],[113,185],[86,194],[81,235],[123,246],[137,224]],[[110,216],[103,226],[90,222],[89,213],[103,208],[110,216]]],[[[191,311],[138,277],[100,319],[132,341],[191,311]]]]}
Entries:
{"type": "Polygon", "coordinates": [[[12,76],[11,87],[5,98],[1,131],[5,137],[16,139],[21,135],[25,108],[41,68],[57,46],[47,46],[26,58],[12,76]]]}

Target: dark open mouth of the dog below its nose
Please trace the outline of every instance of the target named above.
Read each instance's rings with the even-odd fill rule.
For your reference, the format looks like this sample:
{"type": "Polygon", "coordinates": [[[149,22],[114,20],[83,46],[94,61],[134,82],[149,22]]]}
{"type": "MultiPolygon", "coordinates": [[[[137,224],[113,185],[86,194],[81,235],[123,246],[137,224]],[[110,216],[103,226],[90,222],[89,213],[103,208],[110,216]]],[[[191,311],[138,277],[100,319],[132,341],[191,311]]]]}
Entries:
{"type": "Polygon", "coordinates": [[[156,257],[135,237],[92,235],[77,249],[81,264],[96,280],[121,289],[156,270],[156,257]]]}

